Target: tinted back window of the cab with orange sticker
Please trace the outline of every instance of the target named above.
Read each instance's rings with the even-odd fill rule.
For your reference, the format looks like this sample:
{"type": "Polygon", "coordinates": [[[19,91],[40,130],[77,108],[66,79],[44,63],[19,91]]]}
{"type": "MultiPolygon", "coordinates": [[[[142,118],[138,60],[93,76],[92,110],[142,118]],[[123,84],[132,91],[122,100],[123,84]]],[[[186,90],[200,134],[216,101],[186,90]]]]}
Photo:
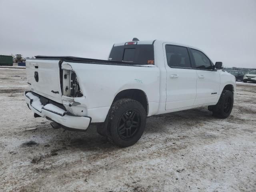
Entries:
{"type": "Polygon", "coordinates": [[[153,44],[132,44],[114,46],[108,60],[130,62],[131,64],[154,64],[153,44]]]}

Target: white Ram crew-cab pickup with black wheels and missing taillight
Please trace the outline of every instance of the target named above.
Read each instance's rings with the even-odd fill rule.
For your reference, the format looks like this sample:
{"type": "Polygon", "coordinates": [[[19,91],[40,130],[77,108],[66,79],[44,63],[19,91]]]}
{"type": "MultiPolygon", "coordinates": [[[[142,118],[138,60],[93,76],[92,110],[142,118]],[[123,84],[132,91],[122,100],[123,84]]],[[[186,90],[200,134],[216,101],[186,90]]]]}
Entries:
{"type": "Polygon", "coordinates": [[[201,50],[152,40],[114,44],[108,60],[36,56],[26,60],[26,103],[53,128],[99,134],[127,147],[142,136],[146,117],[208,106],[230,115],[235,78],[201,50]]]}

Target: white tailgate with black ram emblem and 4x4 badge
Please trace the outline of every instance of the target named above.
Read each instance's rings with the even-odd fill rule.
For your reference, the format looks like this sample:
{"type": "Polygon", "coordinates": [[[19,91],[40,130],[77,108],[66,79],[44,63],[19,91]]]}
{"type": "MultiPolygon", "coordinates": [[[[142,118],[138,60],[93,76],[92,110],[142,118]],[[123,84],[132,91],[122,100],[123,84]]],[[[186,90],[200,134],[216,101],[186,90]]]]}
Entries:
{"type": "Polygon", "coordinates": [[[62,103],[59,60],[26,60],[26,76],[32,92],[62,103]]]}

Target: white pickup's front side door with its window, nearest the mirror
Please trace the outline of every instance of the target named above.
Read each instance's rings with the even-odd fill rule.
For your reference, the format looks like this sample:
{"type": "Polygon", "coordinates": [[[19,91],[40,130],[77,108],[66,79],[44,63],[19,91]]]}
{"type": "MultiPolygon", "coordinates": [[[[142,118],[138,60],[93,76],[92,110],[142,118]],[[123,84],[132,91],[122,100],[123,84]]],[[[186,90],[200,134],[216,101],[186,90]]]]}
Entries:
{"type": "Polygon", "coordinates": [[[207,105],[216,102],[218,95],[221,94],[220,74],[212,69],[212,62],[200,50],[190,48],[192,66],[196,69],[197,85],[196,100],[194,105],[207,105]]]}

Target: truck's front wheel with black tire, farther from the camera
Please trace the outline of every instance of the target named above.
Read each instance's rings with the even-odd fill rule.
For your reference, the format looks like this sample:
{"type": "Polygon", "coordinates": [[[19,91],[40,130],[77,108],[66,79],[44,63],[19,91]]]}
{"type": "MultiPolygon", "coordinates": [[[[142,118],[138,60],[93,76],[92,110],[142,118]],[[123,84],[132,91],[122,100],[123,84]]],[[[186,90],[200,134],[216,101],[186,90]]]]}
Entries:
{"type": "Polygon", "coordinates": [[[223,90],[218,103],[213,106],[208,106],[208,110],[212,111],[214,116],[224,119],[230,115],[233,104],[233,92],[229,90],[223,90]]]}

